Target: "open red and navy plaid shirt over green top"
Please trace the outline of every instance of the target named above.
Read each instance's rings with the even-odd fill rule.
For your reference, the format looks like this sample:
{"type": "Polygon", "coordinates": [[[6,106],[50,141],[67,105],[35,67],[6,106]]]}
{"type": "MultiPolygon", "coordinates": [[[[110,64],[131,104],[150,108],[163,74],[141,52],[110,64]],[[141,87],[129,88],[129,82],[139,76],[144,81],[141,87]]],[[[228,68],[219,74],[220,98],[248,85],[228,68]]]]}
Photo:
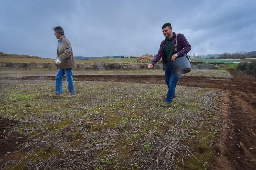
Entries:
{"type": "MultiPolygon", "coordinates": [[[[175,40],[176,36],[177,36],[177,51],[174,51],[174,54],[177,54],[178,57],[182,56],[182,55],[186,55],[191,50],[191,46],[183,34],[180,34],[180,33],[176,34],[175,32],[173,32],[173,40],[172,40],[173,41],[173,50],[175,50],[174,46],[176,44],[176,40],[175,40]]],[[[165,45],[166,45],[166,40],[164,39],[160,44],[158,53],[156,54],[155,58],[151,61],[151,64],[155,65],[155,63],[157,63],[162,57],[163,70],[165,70],[165,68],[166,68],[166,56],[164,53],[165,45]]]]}

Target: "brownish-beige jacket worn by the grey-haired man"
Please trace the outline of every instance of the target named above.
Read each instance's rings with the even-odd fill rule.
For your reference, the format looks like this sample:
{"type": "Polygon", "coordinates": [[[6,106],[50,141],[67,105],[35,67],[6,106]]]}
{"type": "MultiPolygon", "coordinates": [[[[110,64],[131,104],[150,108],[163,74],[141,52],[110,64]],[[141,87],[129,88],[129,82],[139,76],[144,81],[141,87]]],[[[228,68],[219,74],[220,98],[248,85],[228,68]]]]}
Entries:
{"type": "Polygon", "coordinates": [[[58,40],[57,55],[61,63],[57,66],[58,69],[70,69],[75,67],[73,51],[69,40],[66,36],[60,37],[58,40]]]}

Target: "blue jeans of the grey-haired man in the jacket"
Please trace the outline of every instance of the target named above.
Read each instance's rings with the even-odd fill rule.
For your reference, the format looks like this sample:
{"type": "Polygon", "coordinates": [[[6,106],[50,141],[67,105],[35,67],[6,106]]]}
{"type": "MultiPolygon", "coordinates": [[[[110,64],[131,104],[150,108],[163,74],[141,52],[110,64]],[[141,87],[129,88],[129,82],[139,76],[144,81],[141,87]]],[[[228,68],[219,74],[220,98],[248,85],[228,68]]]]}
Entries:
{"type": "Polygon", "coordinates": [[[55,78],[55,93],[62,94],[62,78],[66,75],[66,81],[68,83],[68,92],[71,95],[76,94],[75,86],[73,82],[73,73],[72,68],[71,69],[59,69],[55,78]]]}

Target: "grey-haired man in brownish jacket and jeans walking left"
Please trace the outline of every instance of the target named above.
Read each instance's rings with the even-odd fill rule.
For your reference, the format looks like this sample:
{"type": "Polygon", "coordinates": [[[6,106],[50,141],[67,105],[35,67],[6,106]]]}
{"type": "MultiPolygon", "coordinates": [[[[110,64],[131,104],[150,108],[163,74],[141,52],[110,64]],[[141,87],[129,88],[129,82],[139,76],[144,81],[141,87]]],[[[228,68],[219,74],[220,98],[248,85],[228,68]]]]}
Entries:
{"type": "Polygon", "coordinates": [[[58,72],[55,77],[55,93],[50,94],[49,96],[56,98],[62,97],[62,78],[64,75],[66,75],[69,94],[66,95],[65,98],[76,97],[72,74],[72,68],[75,67],[75,61],[71,44],[66,38],[62,27],[56,26],[52,28],[52,30],[54,30],[54,35],[59,42],[57,47],[58,58],[54,61],[54,63],[57,65],[58,72]]]}

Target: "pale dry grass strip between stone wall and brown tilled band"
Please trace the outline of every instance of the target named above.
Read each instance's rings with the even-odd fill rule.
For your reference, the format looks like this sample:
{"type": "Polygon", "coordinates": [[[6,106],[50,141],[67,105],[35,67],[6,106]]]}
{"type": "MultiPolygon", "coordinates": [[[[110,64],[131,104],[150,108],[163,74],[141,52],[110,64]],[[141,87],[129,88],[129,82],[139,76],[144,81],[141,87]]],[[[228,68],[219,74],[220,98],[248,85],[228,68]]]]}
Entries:
{"type": "MultiPolygon", "coordinates": [[[[55,76],[55,70],[0,70],[0,77],[15,76],[55,76]]],[[[73,70],[73,75],[164,75],[162,70],[73,70]]],[[[232,77],[226,70],[193,69],[186,76],[232,77]]]]}

